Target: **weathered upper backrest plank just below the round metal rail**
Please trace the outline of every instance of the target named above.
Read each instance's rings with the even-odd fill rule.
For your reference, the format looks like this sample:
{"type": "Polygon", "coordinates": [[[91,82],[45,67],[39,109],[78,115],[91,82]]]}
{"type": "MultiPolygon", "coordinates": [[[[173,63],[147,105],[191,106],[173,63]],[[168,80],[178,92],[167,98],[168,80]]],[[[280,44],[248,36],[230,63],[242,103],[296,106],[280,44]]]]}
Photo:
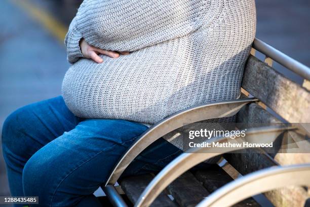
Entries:
{"type": "Polygon", "coordinates": [[[291,123],[310,122],[310,93],[250,55],[242,87],[291,123]]]}

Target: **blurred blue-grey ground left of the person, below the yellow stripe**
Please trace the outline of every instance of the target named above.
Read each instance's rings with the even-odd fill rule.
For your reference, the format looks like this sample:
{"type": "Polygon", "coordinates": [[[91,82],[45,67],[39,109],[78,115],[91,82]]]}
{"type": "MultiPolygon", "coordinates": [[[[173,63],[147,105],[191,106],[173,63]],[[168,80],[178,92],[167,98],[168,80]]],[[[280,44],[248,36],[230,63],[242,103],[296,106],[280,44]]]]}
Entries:
{"type": "MultiPolygon", "coordinates": [[[[28,103],[60,95],[69,66],[65,48],[7,0],[0,1],[0,131],[5,117],[28,103]]],[[[8,195],[2,152],[0,195],[8,195]]]]}

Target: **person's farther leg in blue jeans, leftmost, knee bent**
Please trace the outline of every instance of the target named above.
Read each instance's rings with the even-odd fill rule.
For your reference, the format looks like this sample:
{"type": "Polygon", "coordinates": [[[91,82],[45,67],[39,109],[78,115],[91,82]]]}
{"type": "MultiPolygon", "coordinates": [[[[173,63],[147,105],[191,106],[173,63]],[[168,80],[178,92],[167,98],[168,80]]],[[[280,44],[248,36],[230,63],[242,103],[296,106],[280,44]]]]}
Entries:
{"type": "Polygon", "coordinates": [[[22,171],[28,159],[81,120],[68,110],[61,96],[24,106],[7,117],[1,140],[11,195],[24,194],[22,171]]]}

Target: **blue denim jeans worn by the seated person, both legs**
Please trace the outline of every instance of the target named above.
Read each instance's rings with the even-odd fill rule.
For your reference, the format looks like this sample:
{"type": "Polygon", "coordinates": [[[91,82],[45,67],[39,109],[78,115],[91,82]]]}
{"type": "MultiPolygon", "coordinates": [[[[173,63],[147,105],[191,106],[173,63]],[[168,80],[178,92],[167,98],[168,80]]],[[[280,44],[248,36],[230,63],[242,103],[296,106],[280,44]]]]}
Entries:
{"type": "MultiPolygon", "coordinates": [[[[101,206],[93,192],[146,129],[127,120],[81,119],[61,96],[25,106],[3,127],[11,194],[38,196],[40,206],[101,206]]],[[[124,175],[158,171],[180,153],[161,138],[124,175]]]]}

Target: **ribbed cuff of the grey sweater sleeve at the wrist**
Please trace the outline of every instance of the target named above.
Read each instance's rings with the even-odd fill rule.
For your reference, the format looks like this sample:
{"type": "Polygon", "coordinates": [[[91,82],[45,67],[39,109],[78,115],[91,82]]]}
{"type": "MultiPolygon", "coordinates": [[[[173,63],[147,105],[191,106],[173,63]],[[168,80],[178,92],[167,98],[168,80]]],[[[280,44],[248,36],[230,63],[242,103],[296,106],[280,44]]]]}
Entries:
{"type": "Polygon", "coordinates": [[[81,32],[79,32],[75,27],[73,27],[67,35],[67,59],[73,64],[81,57],[84,57],[80,48],[80,40],[83,37],[81,32]]]}

